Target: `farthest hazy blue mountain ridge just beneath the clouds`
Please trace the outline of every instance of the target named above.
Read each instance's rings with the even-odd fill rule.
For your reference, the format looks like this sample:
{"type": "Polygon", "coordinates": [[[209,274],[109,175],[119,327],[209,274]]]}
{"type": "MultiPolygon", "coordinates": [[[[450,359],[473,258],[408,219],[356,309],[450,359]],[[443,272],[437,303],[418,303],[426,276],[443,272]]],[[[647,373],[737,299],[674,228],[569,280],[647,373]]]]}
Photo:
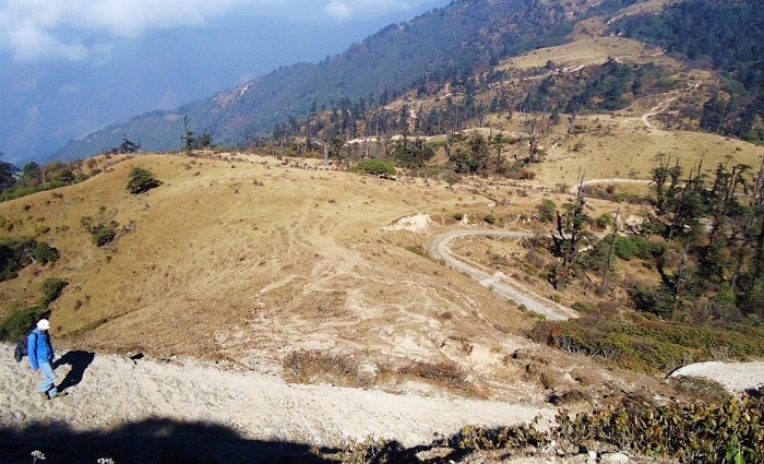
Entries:
{"type": "Polygon", "coordinates": [[[421,1],[414,10],[342,23],[262,15],[255,8],[251,14],[146,31],[135,38],[95,32],[86,40],[91,53],[82,61],[26,62],[0,52],[2,159],[20,167],[27,160],[45,164],[70,140],[135,115],[206,98],[279,66],[318,62],[392,22],[447,3],[421,1]]]}

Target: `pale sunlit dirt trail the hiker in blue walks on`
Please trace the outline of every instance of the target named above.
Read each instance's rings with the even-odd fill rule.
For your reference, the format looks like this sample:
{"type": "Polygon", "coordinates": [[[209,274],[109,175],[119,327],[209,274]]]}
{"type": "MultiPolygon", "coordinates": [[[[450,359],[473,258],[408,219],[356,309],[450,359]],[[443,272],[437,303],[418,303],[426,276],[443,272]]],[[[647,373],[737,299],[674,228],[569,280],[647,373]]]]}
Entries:
{"type": "Polygon", "coordinates": [[[367,437],[411,448],[450,437],[466,425],[494,427],[554,415],[551,408],[527,402],[290,384],[276,376],[222,369],[195,359],[132,360],[117,355],[61,353],[68,364],[57,368],[57,383],[62,383],[69,395],[45,401],[37,392],[39,373],[31,370],[27,359],[16,364],[11,346],[0,345],[0,428],[21,430],[22,441],[10,447],[0,440],[0,462],[28,463],[35,449],[48,451],[49,457],[56,454],[50,448],[62,447],[56,439],[35,442],[36,433],[23,431],[35,425],[60,424],[70,433],[87,433],[169,420],[204,423],[242,440],[279,443],[282,448],[285,443],[300,443],[306,449],[338,447],[343,440],[362,441],[367,437]]]}

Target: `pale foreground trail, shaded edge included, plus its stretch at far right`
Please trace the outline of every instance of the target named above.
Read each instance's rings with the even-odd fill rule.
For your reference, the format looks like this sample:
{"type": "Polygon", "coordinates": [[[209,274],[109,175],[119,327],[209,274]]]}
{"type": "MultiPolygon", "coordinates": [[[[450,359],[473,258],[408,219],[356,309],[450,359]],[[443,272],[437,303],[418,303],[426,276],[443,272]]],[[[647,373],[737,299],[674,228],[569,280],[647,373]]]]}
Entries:
{"type": "MultiPolygon", "coordinates": [[[[39,373],[31,370],[26,358],[16,364],[12,346],[0,344],[0,463],[29,463],[34,450],[46,453],[46,463],[94,463],[96,455],[119,456],[118,464],[324,462],[306,457],[310,447],[337,449],[347,439],[374,437],[416,451],[417,447],[431,448],[435,440],[452,437],[466,425],[527,424],[537,416],[541,424],[549,424],[556,414],[522,400],[502,403],[444,394],[394,395],[380,390],[290,384],[274,374],[198,359],[132,360],[71,353],[76,356],[60,350],[62,360],[74,367],[61,364],[57,368],[58,383],[70,385],[65,389],[69,395],[45,401],[37,392],[39,373]],[[57,433],[62,429],[67,433],[57,433]],[[7,440],[10,433],[13,438],[7,440]],[[177,444],[178,450],[193,450],[199,460],[160,459],[159,450],[171,448],[168,441],[182,443],[177,444]],[[91,442],[100,448],[89,449],[91,442]],[[127,451],[131,456],[127,460],[126,447],[135,447],[127,451]]],[[[732,391],[744,391],[764,383],[764,362],[704,362],[675,374],[708,377],[732,391]]],[[[171,455],[182,455],[178,450],[171,455]]],[[[409,457],[418,461],[414,454],[409,457]]],[[[552,461],[542,462],[587,462],[585,456],[582,461],[550,457],[552,461]]]]}

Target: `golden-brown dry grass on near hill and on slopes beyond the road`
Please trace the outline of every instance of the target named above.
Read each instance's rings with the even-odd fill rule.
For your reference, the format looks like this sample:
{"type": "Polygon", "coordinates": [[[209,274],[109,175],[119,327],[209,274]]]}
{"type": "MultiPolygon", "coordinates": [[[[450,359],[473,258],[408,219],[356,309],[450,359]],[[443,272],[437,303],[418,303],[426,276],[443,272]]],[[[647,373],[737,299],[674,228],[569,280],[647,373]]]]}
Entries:
{"type": "MultiPolygon", "coordinates": [[[[52,305],[53,329],[64,344],[86,349],[191,355],[296,381],[398,392],[443,388],[589,405],[624,393],[675,394],[660,378],[530,342],[526,334],[537,316],[425,251],[435,235],[459,227],[455,217],[462,215],[470,227],[489,227],[482,219],[490,215],[490,227],[548,236],[549,225],[527,219],[544,199],[572,201],[571,187],[581,176],[648,179],[659,154],[687,169],[701,158],[708,171],[727,160],[759,166],[761,146],[676,129],[682,121],[652,118],[656,128],[645,127],[642,116],[660,102],[681,104],[713,85],[708,75],[682,71],[655,53],[621,38],[582,38],[512,60],[513,67],[532,68],[549,60],[569,67],[610,56],[649,58],[676,68],[682,82],[699,84],[637,99],[614,115],[577,116],[573,133],[563,117],[544,141],[542,162],[530,167],[533,181],[465,177],[450,187],[407,176],[381,180],[317,159],[252,154],[89,160],[93,172],[103,172],[83,183],[0,203],[0,235],[40,234],[38,240],[61,251],[56,264],[28,266],[0,283],[0,317],[39,298],[46,278],[60,277],[69,285],[52,305]],[[665,130],[667,122],[671,130],[665,130]],[[134,167],[163,185],[129,194],[134,167]],[[398,219],[420,214],[430,219],[423,227],[396,227],[398,219]],[[83,217],[130,229],[98,248],[83,217]]],[[[521,134],[522,124],[523,115],[491,115],[479,130],[521,134]]],[[[517,143],[504,153],[524,150],[517,143]]],[[[435,163],[443,160],[441,148],[435,163]]],[[[645,187],[616,190],[644,193],[645,187]]],[[[617,209],[623,217],[640,215],[645,207],[587,200],[587,214],[595,217],[617,209]]],[[[580,283],[553,292],[542,274],[551,255],[524,240],[459,239],[453,251],[563,305],[583,301],[611,311],[625,298],[618,288],[594,295],[580,283]]],[[[619,263],[612,278],[649,278],[642,266],[619,263]]]]}

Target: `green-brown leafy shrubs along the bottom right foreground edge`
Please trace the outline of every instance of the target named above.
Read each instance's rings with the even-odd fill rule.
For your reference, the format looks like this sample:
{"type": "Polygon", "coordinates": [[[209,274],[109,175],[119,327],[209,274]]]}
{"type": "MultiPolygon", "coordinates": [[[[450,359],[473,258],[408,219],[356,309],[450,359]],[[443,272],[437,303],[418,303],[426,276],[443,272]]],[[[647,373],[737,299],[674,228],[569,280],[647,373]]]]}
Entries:
{"type": "MultiPolygon", "coordinates": [[[[573,454],[610,444],[640,455],[681,463],[760,463],[764,459],[762,392],[707,404],[622,400],[619,404],[573,414],[561,409],[551,430],[529,426],[482,429],[465,427],[447,444],[456,450],[514,452],[557,447],[573,454]],[[598,444],[599,443],[599,444],[598,444]]],[[[602,460],[605,461],[605,460],[602,460]]],[[[613,461],[614,462],[614,461],[613,461]]]]}

